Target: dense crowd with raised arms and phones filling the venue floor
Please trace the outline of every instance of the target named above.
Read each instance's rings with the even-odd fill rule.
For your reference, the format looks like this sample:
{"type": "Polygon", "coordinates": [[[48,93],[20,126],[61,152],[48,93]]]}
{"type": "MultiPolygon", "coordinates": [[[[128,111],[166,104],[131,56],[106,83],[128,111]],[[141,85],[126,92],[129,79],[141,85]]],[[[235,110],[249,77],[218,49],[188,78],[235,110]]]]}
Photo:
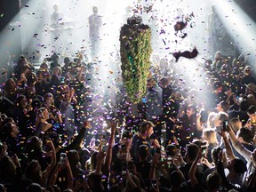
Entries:
{"type": "Polygon", "coordinates": [[[4,74],[0,191],[256,190],[256,78],[246,56],[205,60],[203,92],[185,89],[160,60],[139,103],[121,76],[110,97],[99,94],[93,63],[63,62],[54,54],[35,69],[21,55],[4,74]]]}

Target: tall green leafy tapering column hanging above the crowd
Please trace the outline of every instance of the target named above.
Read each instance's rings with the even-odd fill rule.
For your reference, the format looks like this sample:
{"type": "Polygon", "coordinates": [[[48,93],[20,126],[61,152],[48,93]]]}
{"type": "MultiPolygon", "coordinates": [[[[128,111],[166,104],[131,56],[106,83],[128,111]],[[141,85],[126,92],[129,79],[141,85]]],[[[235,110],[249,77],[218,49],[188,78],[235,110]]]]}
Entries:
{"type": "Polygon", "coordinates": [[[146,92],[150,67],[151,30],[133,16],[121,28],[121,69],[126,93],[130,100],[138,103],[146,92]]]}

